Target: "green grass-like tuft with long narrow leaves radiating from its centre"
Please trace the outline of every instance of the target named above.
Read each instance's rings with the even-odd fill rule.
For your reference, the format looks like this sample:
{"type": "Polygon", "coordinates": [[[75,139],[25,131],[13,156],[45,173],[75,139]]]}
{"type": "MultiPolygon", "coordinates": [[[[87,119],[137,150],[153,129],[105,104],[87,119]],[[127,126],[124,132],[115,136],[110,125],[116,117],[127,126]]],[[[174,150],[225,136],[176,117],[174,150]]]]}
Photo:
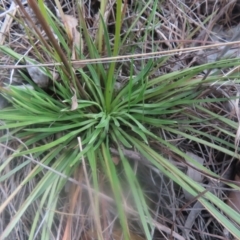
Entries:
{"type": "MultiPolygon", "coordinates": [[[[148,1],[147,4],[151,2],[148,1]]],[[[107,184],[111,187],[114,203],[111,202],[111,198],[106,201],[110,201],[117,209],[123,239],[131,239],[131,235],[127,207],[123,204],[122,178],[132,192],[134,216],[138,217],[146,239],[152,239],[151,229],[154,220],[148,208],[147,196],[141,188],[132,163],[125,154],[129,149],[139,152],[148,164],[157,168],[190,194],[199,196],[198,200],[214,218],[233,235],[240,236],[240,230],[232,223],[233,220],[240,224],[240,215],[180,171],[169,161],[168,153],[193,163],[197,169],[213,179],[218,179],[219,176],[191,159],[167,137],[168,134],[176,138],[183,137],[237,157],[234,143],[218,136],[214,136],[214,141],[210,141],[213,138],[210,132],[198,130],[201,124],[210,124],[213,130],[232,138],[231,131],[220,129],[212,122],[224,123],[235,130],[238,128],[237,123],[204,107],[226,99],[201,98],[206,86],[210,87],[216,80],[224,82],[224,77],[210,76],[202,81],[198,74],[211,68],[236,66],[239,60],[222,60],[214,65],[205,64],[158,77],[154,77],[153,72],[161,65],[160,60],[151,58],[136,62],[132,60],[129,62],[130,74],[126,83],[120,83],[121,87],[117,88],[121,64],[112,61],[108,65],[97,62],[76,67],[76,63],[71,63],[73,48],[70,47],[71,41],[63,31],[63,24],[48,11],[42,0],[39,0],[38,5],[35,1],[29,3],[48,40],[40,37],[36,28],[35,31],[31,31],[29,26],[22,23],[29,39],[35,36],[40,40],[38,46],[33,45],[37,59],[29,57],[27,60],[44,63],[44,56],[47,56],[54,63],[60,63],[55,66],[60,81],[53,79],[49,68],[41,67],[52,78],[47,90],[36,86],[24,73],[22,76],[33,85],[34,89],[14,86],[1,88],[1,94],[10,102],[10,106],[0,111],[0,118],[3,121],[0,129],[5,131],[0,141],[1,143],[7,141],[8,146],[14,144],[15,151],[1,163],[0,171],[4,172],[9,164],[14,165],[17,158],[24,160],[11,171],[2,174],[0,181],[7,181],[10,176],[21,171],[31,162],[36,164],[23,176],[21,184],[0,206],[1,213],[25,185],[32,181],[36,182],[31,193],[14,214],[14,218],[1,233],[1,239],[6,238],[16,228],[26,210],[36,201],[38,209],[29,228],[28,239],[35,239],[37,235],[40,236],[39,239],[51,239],[53,234],[51,229],[57,224],[59,199],[67,181],[78,184],[76,189],[78,187],[88,189],[89,204],[94,211],[93,226],[95,226],[96,238],[104,239],[101,222],[103,213],[100,207],[101,199],[104,198],[101,194],[101,175],[104,175],[107,184]],[[137,74],[133,71],[134,64],[141,65],[137,74]],[[165,151],[160,153],[154,146],[159,146],[159,149],[165,151]],[[117,151],[119,156],[117,164],[111,149],[117,151]],[[119,177],[120,170],[123,172],[121,177],[119,177]],[[44,218],[42,212],[45,212],[44,218]]],[[[157,8],[157,4],[158,1],[154,1],[153,8],[157,8]]],[[[88,50],[88,57],[92,59],[103,55],[118,56],[126,38],[131,37],[127,36],[130,32],[127,32],[124,38],[121,36],[124,4],[122,0],[117,0],[112,44],[103,17],[106,5],[107,1],[101,1],[100,24],[95,39],[88,33],[82,6],[78,6],[84,47],[88,50]]],[[[31,24],[27,16],[25,13],[28,24],[31,24]]],[[[149,23],[151,21],[154,21],[154,13],[149,17],[149,23]]],[[[130,28],[133,26],[134,23],[130,28]]],[[[5,46],[0,46],[0,50],[18,60],[23,57],[5,46]]],[[[75,47],[75,51],[77,59],[87,58],[81,47],[75,47]]],[[[228,76],[228,79],[235,77],[236,75],[228,76]]]]}

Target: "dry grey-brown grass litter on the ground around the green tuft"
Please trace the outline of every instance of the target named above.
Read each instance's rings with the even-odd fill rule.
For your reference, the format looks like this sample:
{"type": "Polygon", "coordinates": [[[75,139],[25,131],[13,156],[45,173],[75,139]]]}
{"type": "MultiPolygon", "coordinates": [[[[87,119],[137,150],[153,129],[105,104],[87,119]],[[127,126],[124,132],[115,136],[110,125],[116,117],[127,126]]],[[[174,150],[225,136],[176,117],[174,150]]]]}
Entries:
{"type": "MultiPolygon", "coordinates": [[[[77,11],[75,9],[74,1],[66,0],[60,2],[62,6],[64,6],[63,9],[66,14],[74,17],[76,16],[77,11]]],[[[95,27],[97,25],[96,14],[99,8],[99,1],[88,0],[84,2],[86,22],[91,34],[94,36],[96,30],[95,27]]],[[[110,3],[107,5],[109,8],[109,31],[110,33],[112,31],[113,36],[114,14],[111,11],[114,11],[115,1],[109,2],[110,3]]],[[[146,4],[143,0],[138,2],[141,2],[142,8],[146,4]]],[[[135,28],[131,30],[134,33],[135,38],[126,41],[124,48],[120,51],[122,55],[126,55],[166,50],[171,53],[172,50],[178,49],[179,51],[177,53],[172,53],[170,58],[166,60],[165,64],[154,72],[154,75],[160,76],[165,73],[182,70],[194,65],[215,61],[221,54],[223,47],[219,46],[188,53],[181,52],[181,49],[186,47],[207,46],[214,43],[224,43],[231,41],[233,38],[235,41],[240,39],[240,36],[238,36],[240,2],[237,0],[171,0],[159,2],[160,3],[157,5],[157,11],[155,15],[155,25],[147,24],[148,16],[151,14],[153,8],[153,6],[150,4],[149,7],[146,8],[143,13],[141,13],[141,18],[138,20],[135,28]],[[152,35],[145,36],[146,28],[152,29],[152,35]]],[[[54,3],[48,1],[46,1],[46,3],[56,15],[57,13],[54,10],[54,3]]],[[[28,5],[25,4],[24,6],[26,7],[27,11],[32,14],[28,8],[28,5]]],[[[136,6],[137,4],[134,1],[128,1],[126,19],[124,20],[122,29],[123,35],[126,31],[128,31],[129,26],[135,20],[136,16],[140,14],[140,9],[142,8],[136,8],[136,6]]],[[[8,17],[8,11],[17,19],[19,18],[20,13],[17,10],[16,5],[12,1],[1,0],[0,44],[10,46],[11,49],[17,53],[32,56],[32,48],[28,39],[28,35],[26,34],[25,30],[20,27],[16,20],[8,17]]],[[[34,19],[34,15],[32,14],[31,16],[34,19]]],[[[238,45],[233,45],[228,49],[227,54],[239,56],[238,52],[238,45]]],[[[48,62],[48,59],[46,59],[46,62],[48,62]]],[[[0,65],[4,66],[14,64],[17,65],[18,63],[7,56],[6,53],[0,52],[0,65]]],[[[123,71],[121,72],[122,82],[127,79],[130,71],[127,64],[125,65],[126,66],[123,65],[123,71]]],[[[140,68],[141,66],[136,63],[134,73],[137,74],[140,68]]],[[[206,73],[207,72],[202,72],[200,77],[204,77],[204,74],[206,73]]],[[[0,68],[1,86],[3,86],[5,83],[22,85],[22,82],[23,80],[17,70],[0,68]]],[[[122,82],[120,81],[120,84],[122,82]]],[[[228,91],[232,91],[231,87],[226,86],[226,89],[228,91]]],[[[0,107],[5,106],[5,104],[6,102],[0,98],[0,107]]],[[[205,159],[204,164],[218,174],[225,173],[223,170],[232,164],[231,158],[228,156],[219,156],[218,152],[213,151],[205,146],[192,145],[190,141],[186,141],[184,139],[179,141],[177,144],[180,148],[184,148],[184,150],[189,151],[190,154],[194,154],[194,157],[199,157],[199,161],[201,161],[201,159],[205,159]],[[209,157],[207,157],[209,155],[213,156],[214,158],[209,159],[209,157]],[[206,159],[208,159],[207,162],[206,159]]],[[[6,148],[0,145],[0,160],[4,161],[7,154],[8,152],[6,151],[6,148]]],[[[22,160],[19,159],[18,161],[20,164],[22,160]]],[[[188,171],[191,171],[191,168],[188,168],[182,163],[176,162],[176,165],[178,165],[179,168],[185,172],[187,172],[187,169],[188,171]]],[[[10,169],[12,167],[13,166],[9,166],[10,169]]],[[[25,171],[30,170],[31,166],[29,166],[25,171]]],[[[163,229],[162,232],[156,231],[153,234],[153,239],[166,239],[164,238],[164,234],[169,234],[169,231],[175,231],[178,233],[180,231],[179,229],[182,229],[182,231],[179,232],[179,235],[176,235],[175,239],[180,239],[178,238],[180,235],[182,235],[184,239],[230,239],[230,236],[227,236],[226,238],[223,227],[216,220],[214,220],[207,211],[203,210],[201,204],[197,204],[195,201],[193,201],[191,204],[191,197],[187,196],[187,193],[184,193],[172,181],[163,177],[161,173],[154,172],[154,170],[151,168],[146,168],[144,165],[140,165],[138,171],[139,178],[141,179],[145,190],[149,191],[148,195],[152,212],[156,214],[161,226],[166,228],[163,229]]],[[[194,178],[195,176],[193,175],[196,175],[196,172],[188,174],[194,178]]],[[[230,177],[233,178],[233,176],[230,177]]],[[[7,196],[16,188],[17,185],[19,185],[21,178],[21,174],[17,174],[11,179],[11,181],[6,182],[5,185],[0,185],[0,203],[4,202],[7,196]]],[[[226,191],[223,191],[223,185],[218,185],[217,183],[211,183],[209,181],[204,182],[204,180],[200,181],[202,181],[203,184],[207,184],[208,187],[214,189],[214,193],[221,199],[224,200],[224,198],[226,198],[226,191]]],[[[32,184],[34,185],[34,182],[32,182],[32,184]]],[[[31,188],[32,186],[25,188],[24,191],[22,191],[17,198],[11,202],[9,208],[3,214],[1,214],[0,233],[6,227],[8,219],[11,218],[11,215],[14,213],[15,209],[18,209],[21,205],[25,195],[28,195],[31,192],[31,188]]],[[[126,192],[127,191],[128,189],[126,187],[126,192]]],[[[107,191],[105,191],[105,194],[107,194],[107,191]]],[[[129,201],[129,204],[131,205],[131,198],[129,201]]],[[[59,203],[61,204],[63,211],[66,207],[66,202],[67,200],[63,193],[61,203],[59,203]]],[[[38,204],[39,203],[36,202],[31,208],[29,208],[22,220],[23,226],[20,226],[20,230],[15,229],[12,235],[10,235],[9,239],[17,239],[16,236],[20,236],[19,239],[28,239],[28,232],[26,229],[29,229],[32,216],[35,214],[38,204]],[[18,231],[22,231],[22,233],[18,233],[18,231]]],[[[86,206],[83,207],[87,208],[86,206]]],[[[81,212],[81,210],[79,210],[79,212],[81,212]]],[[[63,217],[61,217],[59,220],[60,225],[63,224],[61,222],[62,219],[63,217]]],[[[76,226],[79,224],[81,219],[76,217],[75,221],[75,231],[78,232],[76,230],[76,226]]],[[[133,232],[132,239],[136,240],[142,239],[140,237],[141,232],[137,225],[137,221],[132,219],[132,225],[130,226],[133,232]]],[[[81,229],[79,232],[82,233],[83,229],[81,229]]],[[[119,233],[118,229],[115,230],[114,234],[114,239],[120,239],[121,233],[119,233]]],[[[74,239],[79,239],[79,237],[81,237],[81,239],[94,239],[94,237],[90,238],[87,234],[85,237],[83,237],[79,233],[76,233],[74,239]]]]}

